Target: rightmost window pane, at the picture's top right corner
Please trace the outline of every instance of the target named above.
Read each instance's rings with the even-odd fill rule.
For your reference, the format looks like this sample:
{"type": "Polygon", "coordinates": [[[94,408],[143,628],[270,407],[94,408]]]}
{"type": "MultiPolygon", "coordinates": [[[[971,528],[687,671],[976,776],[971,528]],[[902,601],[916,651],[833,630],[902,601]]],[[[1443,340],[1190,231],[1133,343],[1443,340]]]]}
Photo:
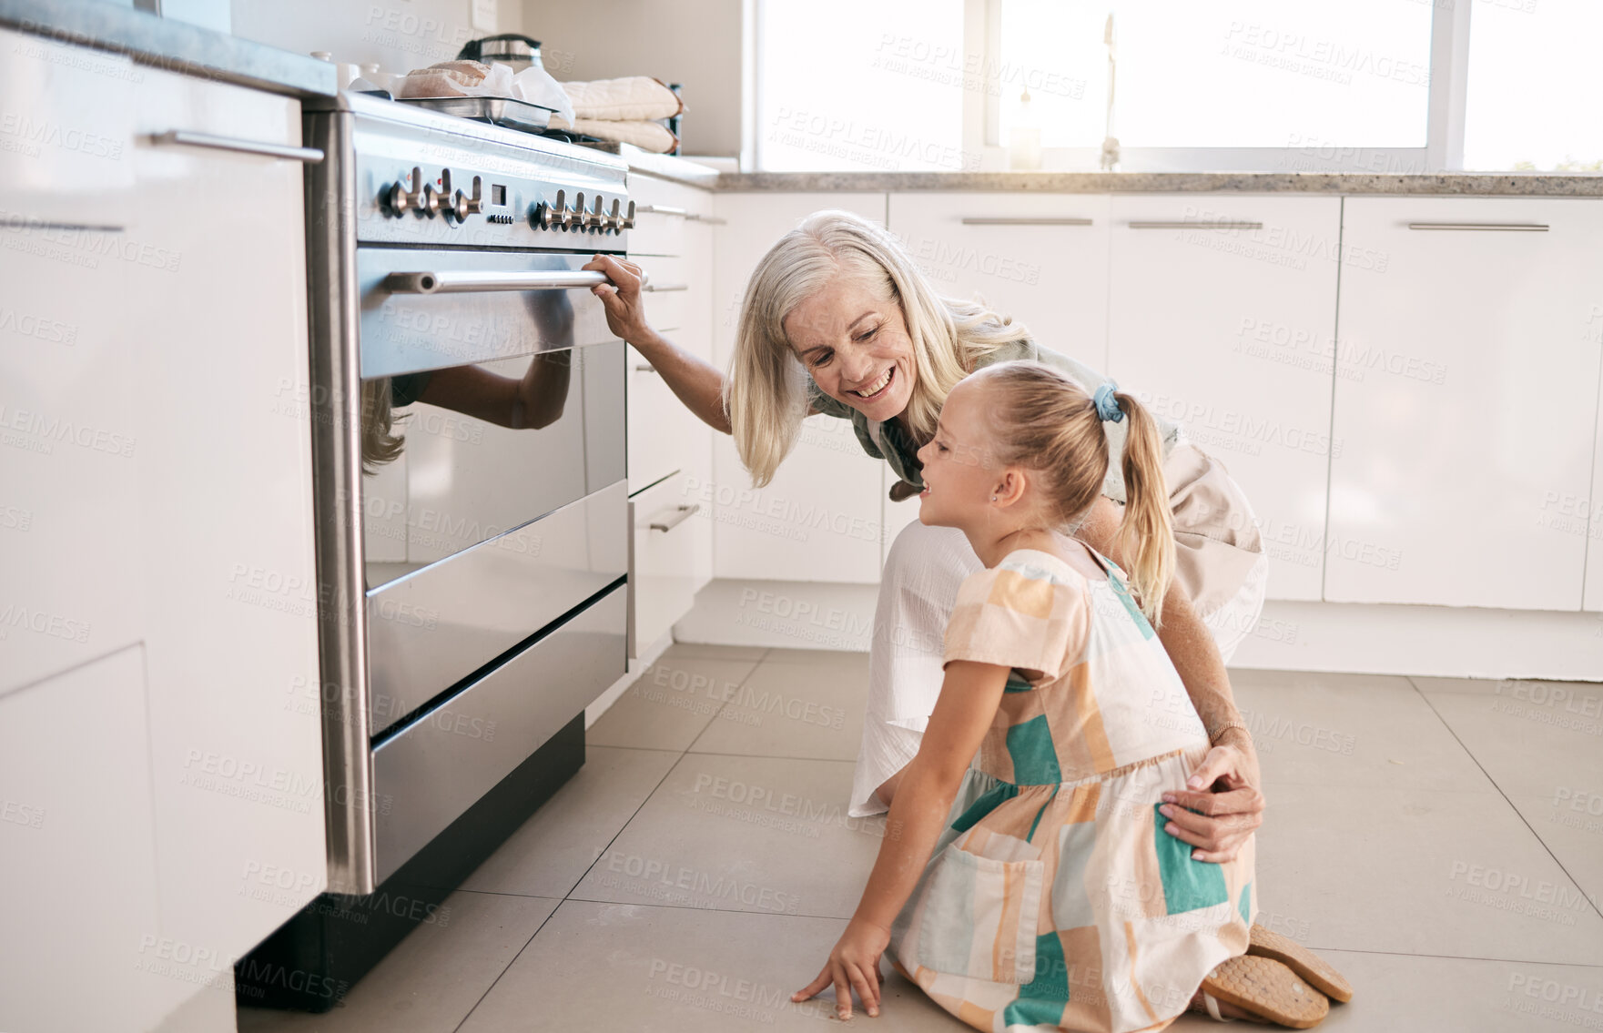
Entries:
{"type": "Polygon", "coordinates": [[[1600,40],[1598,0],[1476,3],[1464,167],[1603,170],[1600,40]]]}

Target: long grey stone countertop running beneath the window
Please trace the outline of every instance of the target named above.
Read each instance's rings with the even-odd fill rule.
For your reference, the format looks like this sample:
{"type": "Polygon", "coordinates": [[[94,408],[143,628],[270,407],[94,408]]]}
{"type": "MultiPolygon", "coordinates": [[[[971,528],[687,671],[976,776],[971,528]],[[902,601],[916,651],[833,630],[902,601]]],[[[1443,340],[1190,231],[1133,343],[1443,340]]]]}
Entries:
{"type": "Polygon", "coordinates": [[[765,191],[949,191],[1018,194],[1396,194],[1462,197],[1603,197],[1603,175],[1568,173],[720,173],[628,144],[592,144],[630,171],[729,194],[765,191]]]}

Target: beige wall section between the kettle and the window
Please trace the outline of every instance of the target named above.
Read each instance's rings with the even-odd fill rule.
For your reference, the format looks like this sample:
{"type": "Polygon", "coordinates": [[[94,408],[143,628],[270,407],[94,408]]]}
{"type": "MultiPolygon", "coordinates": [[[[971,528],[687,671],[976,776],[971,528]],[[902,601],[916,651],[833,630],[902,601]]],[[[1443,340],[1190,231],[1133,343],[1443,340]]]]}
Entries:
{"type": "Polygon", "coordinates": [[[741,152],[741,0],[524,0],[511,32],[540,40],[558,82],[683,83],[681,154],[741,152]]]}

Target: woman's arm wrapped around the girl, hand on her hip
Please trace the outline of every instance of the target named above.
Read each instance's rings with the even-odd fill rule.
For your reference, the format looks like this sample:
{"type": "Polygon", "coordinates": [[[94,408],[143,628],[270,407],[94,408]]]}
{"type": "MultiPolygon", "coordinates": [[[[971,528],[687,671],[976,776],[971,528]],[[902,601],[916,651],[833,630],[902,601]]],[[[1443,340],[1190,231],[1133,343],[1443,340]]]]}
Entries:
{"type": "MultiPolygon", "coordinates": [[[[1124,567],[1125,557],[1114,545],[1119,519],[1119,504],[1109,498],[1098,498],[1085,524],[1080,525],[1079,537],[1124,567]]],[[[1252,746],[1252,735],[1246,727],[1239,727],[1241,711],[1236,709],[1230,674],[1225,671],[1213,634],[1191,609],[1191,599],[1178,581],[1170,583],[1159,617],[1157,641],[1169,652],[1169,660],[1180,673],[1186,695],[1191,697],[1191,705],[1213,742],[1213,750],[1191,775],[1189,791],[1164,794],[1167,801],[1164,815],[1172,818],[1167,828],[1196,847],[1197,860],[1233,860],[1247,836],[1263,825],[1258,753],[1252,746]],[[1221,788],[1212,790],[1215,783],[1221,788]],[[1201,814],[1193,814],[1196,810],[1201,814]]]]}

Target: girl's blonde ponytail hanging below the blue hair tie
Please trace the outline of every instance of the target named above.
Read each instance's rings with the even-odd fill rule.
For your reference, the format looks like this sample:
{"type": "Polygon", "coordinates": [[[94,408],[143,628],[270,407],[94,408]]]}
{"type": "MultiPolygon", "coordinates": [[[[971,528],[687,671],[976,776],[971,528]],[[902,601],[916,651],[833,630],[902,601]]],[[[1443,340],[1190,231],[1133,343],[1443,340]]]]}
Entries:
{"type": "Polygon", "coordinates": [[[1120,471],[1124,519],[1119,521],[1114,541],[1130,561],[1130,588],[1156,628],[1175,572],[1175,530],[1169,516],[1169,485],[1164,482],[1164,444],[1157,434],[1157,421],[1133,394],[1116,391],[1112,397],[1130,421],[1120,471]]]}

